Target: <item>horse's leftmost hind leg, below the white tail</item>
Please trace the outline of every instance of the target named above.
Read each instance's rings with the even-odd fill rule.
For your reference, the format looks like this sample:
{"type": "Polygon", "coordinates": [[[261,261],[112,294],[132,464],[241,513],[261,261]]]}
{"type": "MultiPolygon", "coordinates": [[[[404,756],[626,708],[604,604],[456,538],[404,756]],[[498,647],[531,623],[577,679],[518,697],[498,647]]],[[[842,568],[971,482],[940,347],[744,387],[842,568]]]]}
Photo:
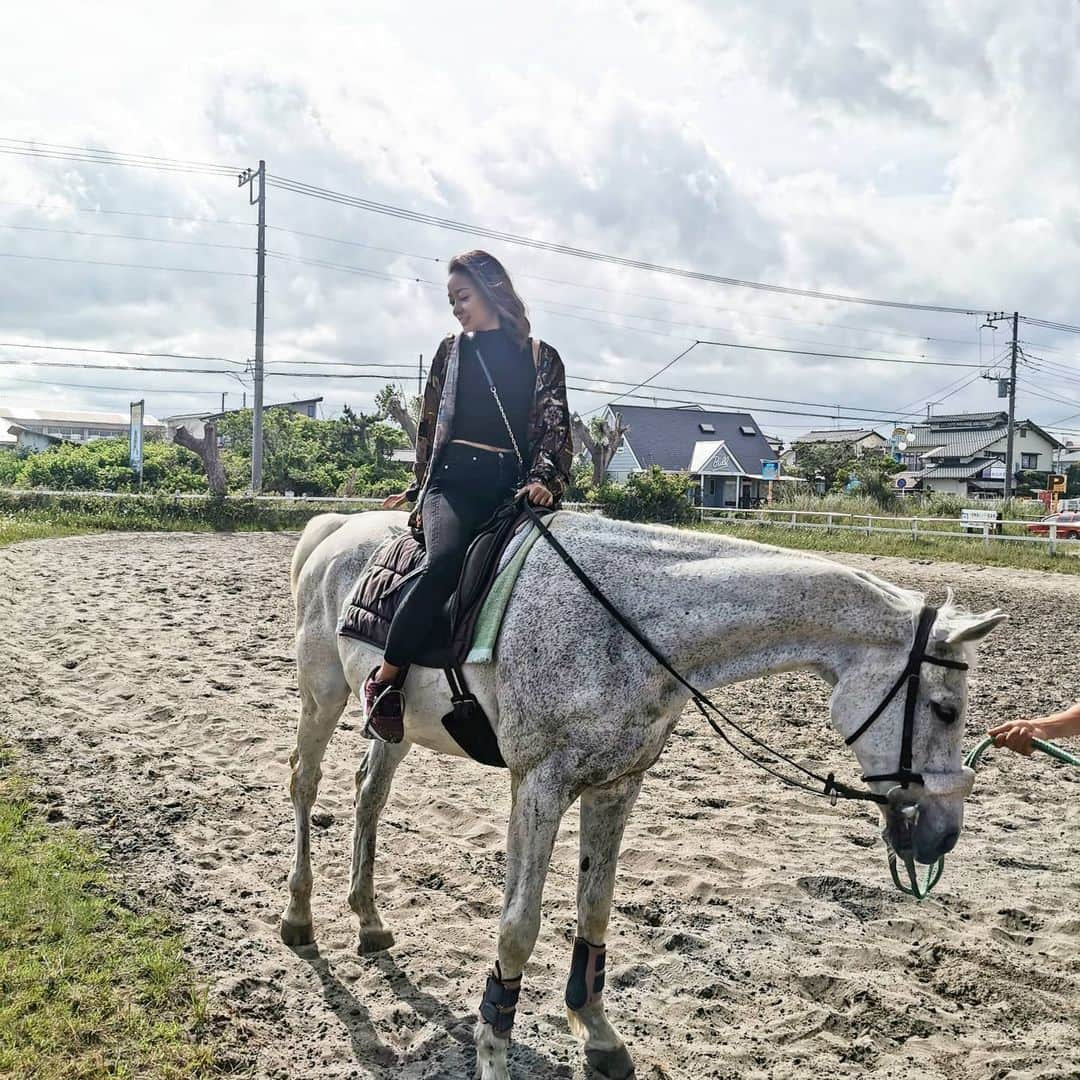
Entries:
{"type": "Polygon", "coordinates": [[[296,851],[288,876],[288,905],[281,917],[281,939],[286,945],[310,945],[315,940],[311,921],[311,808],[322,779],[322,760],[337,721],[349,700],[349,684],[338,669],[319,683],[306,678],[299,669],[300,720],[296,748],[289,755],[293,767],[289,795],[296,816],[296,851]]]}

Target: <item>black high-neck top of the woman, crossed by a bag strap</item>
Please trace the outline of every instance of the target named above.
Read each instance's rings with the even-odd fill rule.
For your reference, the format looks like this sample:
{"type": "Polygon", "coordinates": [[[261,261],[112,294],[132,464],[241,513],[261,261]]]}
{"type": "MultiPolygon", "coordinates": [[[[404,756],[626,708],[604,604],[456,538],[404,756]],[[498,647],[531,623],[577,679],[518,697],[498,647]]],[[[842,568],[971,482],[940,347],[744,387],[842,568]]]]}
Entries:
{"type": "Polygon", "coordinates": [[[499,400],[507,410],[507,419],[525,459],[525,468],[528,468],[529,411],[536,393],[532,349],[527,341],[518,348],[501,328],[461,335],[458,393],[450,437],[513,449],[499,406],[476,360],[477,347],[499,391],[499,400]]]}

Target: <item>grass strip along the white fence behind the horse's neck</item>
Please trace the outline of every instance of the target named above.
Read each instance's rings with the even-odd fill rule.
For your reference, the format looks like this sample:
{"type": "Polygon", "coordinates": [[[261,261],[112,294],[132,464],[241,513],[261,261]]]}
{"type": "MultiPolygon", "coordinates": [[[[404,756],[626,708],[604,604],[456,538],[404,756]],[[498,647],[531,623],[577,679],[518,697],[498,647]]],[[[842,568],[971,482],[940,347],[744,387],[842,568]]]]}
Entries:
{"type": "Polygon", "coordinates": [[[726,536],[757,540],[759,543],[778,548],[793,548],[797,551],[851,552],[860,555],[896,555],[903,558],[932,558],[949,563],[971,563],[976,566],[1008,566],[1022,570],[1052,570],[1055,573],[1080,573],[1080,542],[1062,541],[1062,554],[1050,555],[1036,544],[991,541],[985,546],[981,539],[945,539],[937,537],[913,540],[906,534],[888,534],[847,530],[829,531],[822,528],[805,528],[787,524],[755,524],[740,522],[707,522],[694,526],[707,532],[724,532],[726,536]],[[1072,546],[1070,548],[1070,543],[1072,546]],[[1072,550],[1075,548],[1075,551],[1072,550]]]}

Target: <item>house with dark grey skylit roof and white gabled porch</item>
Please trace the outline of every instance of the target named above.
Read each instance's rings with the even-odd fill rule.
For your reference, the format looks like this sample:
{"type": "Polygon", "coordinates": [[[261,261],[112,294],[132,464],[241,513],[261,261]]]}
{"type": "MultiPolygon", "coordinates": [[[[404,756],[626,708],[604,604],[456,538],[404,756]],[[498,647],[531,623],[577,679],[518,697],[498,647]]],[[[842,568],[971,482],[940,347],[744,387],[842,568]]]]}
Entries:
{"type": "Polygon", "coordinates": [[[612,423],[616,413],[626,434],[608,467],[609,480],[625,483],[632,473],[659,465],[690,474],[697,505],[746,507],[762,501],[775,478],[764,474],[775,451],[748,413],[619,404],[608,405],[604,419],[612,423]]]}

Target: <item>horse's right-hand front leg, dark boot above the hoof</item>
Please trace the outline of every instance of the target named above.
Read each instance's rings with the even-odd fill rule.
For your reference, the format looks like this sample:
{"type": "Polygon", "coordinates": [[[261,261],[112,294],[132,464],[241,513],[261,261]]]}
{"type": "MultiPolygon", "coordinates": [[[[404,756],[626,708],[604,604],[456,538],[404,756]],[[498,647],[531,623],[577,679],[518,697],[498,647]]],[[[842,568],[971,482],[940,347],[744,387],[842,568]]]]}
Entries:
{"type": "Polygon", "coordinates": [[[581,795],[578,936],[566,985],[567,1016],[570,1030],[584,1043],[585,1059],[611,1080],[634,1075],[630,1052],[604,1012],[604,942],[622,834],[640,788],[637,773],[581,795]]]}

